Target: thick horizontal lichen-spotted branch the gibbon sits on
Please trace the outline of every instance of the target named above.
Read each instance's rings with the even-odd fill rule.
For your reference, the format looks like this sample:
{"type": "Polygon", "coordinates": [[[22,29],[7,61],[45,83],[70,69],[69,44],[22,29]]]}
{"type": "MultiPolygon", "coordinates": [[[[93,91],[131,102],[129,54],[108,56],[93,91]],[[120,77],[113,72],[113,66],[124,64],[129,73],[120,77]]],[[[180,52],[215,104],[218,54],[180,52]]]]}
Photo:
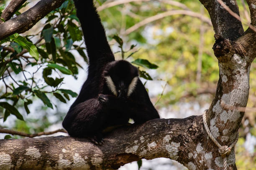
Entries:
{"type": "MultiPolygon", "coordinates": [[[[0,145],[0,167],[13,170],[112,170],[160,157],[177,160],[189,170],[220,170],[222,163],[215,144],[207,139],[202,116],[155,119],[116,129],[105,136],[102,146],[71,137],[8,139],[0,145]]],[[[232,165],[233,150],[228,158],[232,165]]]]}

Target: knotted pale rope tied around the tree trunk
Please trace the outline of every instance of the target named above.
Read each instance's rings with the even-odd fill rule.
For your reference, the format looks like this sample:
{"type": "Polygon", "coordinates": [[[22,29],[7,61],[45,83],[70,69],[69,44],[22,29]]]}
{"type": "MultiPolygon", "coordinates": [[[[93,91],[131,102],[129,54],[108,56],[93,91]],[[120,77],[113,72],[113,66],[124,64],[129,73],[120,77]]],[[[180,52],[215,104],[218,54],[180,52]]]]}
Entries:
{"type": "Polygon", "coordinates": [[[227,170],[227,156],[230,154],[231,149],[236,145],[238,141],[239,134],[237,133],[235,141],[228,147],[227,145],[221,146],[218,141],[212,136],[212,133],[210,132],[210,129],[208,128],[207,122],[206,122],[206,113],[208,110],[205,110],[203,112],[203,122],[205,125],[205,130],[208,134],[208,136],[211,138],[212,142],[215,143],[216,146],[219,148],[219,153],[221,157],[223,158],[223,166],[224,170],[227,170]]]}

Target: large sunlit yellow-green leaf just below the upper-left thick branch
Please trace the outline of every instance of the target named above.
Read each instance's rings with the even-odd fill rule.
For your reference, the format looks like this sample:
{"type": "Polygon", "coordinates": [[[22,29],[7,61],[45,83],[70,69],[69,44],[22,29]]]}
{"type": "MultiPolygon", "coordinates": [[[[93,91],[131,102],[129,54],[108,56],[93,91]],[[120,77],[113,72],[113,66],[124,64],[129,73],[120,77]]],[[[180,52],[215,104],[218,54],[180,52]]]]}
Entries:
{"type": "Polygon", "coordinates": [[[29,42],[25,37],[22,37],[20,35],[18,37],[16,37],[16,35],[11,36],[15,37],[15,39],[13,40],[14,42],[17,42],[21,47],[27,49],[29,54],[36,60],[38,60],[39,54],[36,49],[36,46],[33,45],[33,43],[29,42]]]}

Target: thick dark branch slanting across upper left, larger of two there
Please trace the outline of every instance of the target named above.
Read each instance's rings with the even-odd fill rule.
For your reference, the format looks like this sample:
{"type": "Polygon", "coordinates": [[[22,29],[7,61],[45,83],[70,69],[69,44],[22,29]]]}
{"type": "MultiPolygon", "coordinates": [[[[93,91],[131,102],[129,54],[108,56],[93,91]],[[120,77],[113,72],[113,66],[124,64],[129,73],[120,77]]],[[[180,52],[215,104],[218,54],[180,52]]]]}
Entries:
{"type": "Polygon", "coordinates": [[[41,0],[25,13],[0,24],[0,40],[16,32],[23,33],[33,27],[52,10],[60,7],[65,0],[41,0]]]}

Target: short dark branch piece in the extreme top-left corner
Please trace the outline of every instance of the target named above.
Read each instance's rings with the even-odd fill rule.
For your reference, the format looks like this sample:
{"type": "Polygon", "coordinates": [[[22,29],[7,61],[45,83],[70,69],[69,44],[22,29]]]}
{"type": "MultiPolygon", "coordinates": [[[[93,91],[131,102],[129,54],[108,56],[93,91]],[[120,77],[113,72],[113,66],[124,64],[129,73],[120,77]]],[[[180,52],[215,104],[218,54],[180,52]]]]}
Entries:
{"type": "MultiPolygon", "coordinates": [[[[12,0],[9,5],[3,10],[3,13],[1,15],[1,19],[7,21],[10,20],[10,18],[13,16],[13,14],[16,12],[16,10],[21,7],[21,5],[26,2],[26,0],[12,0]]],[[[0,20],[0,24],[2,24],[3,21],[0,20]]]]}

